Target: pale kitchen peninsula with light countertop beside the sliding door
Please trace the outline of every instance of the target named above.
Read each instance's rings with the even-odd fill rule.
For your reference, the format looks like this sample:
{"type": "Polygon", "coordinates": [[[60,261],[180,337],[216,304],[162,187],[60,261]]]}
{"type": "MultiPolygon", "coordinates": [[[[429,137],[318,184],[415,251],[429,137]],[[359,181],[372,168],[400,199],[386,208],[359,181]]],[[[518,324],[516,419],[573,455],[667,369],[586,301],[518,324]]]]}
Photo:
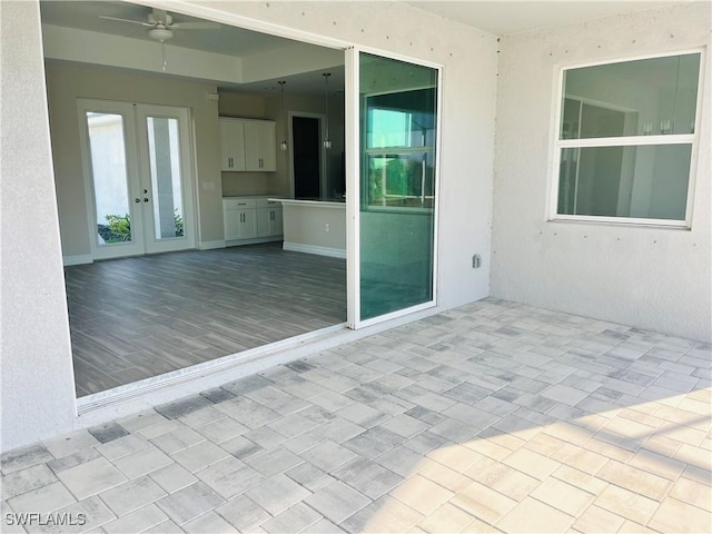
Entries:
{"type": "Polygon", "coordinates": [[[346,258],[346,202],[270,198],[283,206],[285,250],[346,258]]]}

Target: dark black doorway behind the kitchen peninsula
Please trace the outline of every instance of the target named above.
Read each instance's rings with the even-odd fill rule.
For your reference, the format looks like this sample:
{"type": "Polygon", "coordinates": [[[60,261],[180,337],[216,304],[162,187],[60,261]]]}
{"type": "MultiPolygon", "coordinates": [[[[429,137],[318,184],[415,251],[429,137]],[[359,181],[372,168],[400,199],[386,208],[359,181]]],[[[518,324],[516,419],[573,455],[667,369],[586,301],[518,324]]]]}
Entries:
{"type": "Polygon", "coordinates": [[[322,166],[319,119],[291,118],[294,147],[294,197],[301,199],[322,197],[322,166]]]}

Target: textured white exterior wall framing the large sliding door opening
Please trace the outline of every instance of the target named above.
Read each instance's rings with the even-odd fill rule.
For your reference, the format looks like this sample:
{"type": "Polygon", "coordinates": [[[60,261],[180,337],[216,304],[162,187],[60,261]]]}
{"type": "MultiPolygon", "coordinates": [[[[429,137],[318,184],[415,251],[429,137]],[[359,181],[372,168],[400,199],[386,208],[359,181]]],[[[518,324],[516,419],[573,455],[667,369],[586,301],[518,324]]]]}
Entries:
{"type": "MultiPolygon", "coordinates": [[[[39,9],[37,2],[0,6],[4,451],[97,424],[99,418],[75,417],[39,9]],[[21,188],[16,187],[18,181],[21,188]],[[12,187],[6,187],[8,182],[12,187]]],[[[495,36],[396,2],[165,2],[164,7],[253,29],[269,27],[283,37],[338,40],[442,65],[438,309],[488,294],[495,36]],[[475,253],[482,255],[483,268],[472,268],[475,253]]],[[[195,393],[195,387],[199,386],[177,388],[160,402],[195,393]]]]}

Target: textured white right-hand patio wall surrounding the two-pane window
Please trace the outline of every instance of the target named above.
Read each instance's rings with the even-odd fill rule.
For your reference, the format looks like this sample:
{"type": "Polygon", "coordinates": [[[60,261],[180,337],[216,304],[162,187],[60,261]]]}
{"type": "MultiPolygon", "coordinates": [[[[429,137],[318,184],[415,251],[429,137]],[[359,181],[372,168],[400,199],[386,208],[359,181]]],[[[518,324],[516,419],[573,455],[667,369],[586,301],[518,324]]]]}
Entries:
{"type": "Polygon", "coordinates": [[[709,2],[691,2],[502,39],[493,296],[712,338],[710,20],[709,2]],[[558,70],[700,47],[708,49],[692,228],[547,221],[558,70]]]}

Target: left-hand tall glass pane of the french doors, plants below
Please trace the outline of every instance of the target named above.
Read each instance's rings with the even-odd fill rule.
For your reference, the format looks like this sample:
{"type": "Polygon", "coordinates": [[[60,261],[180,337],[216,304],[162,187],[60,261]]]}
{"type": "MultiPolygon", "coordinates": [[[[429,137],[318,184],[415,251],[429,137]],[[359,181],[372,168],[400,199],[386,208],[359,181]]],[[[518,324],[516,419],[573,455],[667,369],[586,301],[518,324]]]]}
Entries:
{"type": "Polygon", "coordinates": [[[97,207],[97,243],[131,240],[123,117],[87,112],[91,176],[97,207]]]}

